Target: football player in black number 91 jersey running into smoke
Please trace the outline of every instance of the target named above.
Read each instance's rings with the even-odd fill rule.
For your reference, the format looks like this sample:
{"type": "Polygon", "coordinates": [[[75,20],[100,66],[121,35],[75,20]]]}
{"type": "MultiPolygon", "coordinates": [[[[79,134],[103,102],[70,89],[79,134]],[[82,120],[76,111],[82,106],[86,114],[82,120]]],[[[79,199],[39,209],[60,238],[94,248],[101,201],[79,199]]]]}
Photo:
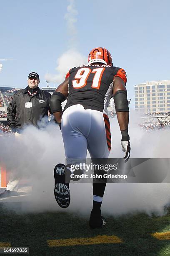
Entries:
{"type": "MultiPolygon", "coordinates": [[[[87,150],[92,159],[108,158],[111,134],[107,107],[111,97],[114,97],[122,133],[124,161],[128,161],[130,138],[126,82],[125,70],[113,67],[110,52],[102,47],[90,51],[87,65],[74,67],[66,74],[65,81],[51,97],[50,108],[61,128],[67,164],[85,161],[87,150]],[[61,103],[65,99],[67,103],[62,111],[61,103]]],[[[63,208],[70,204],[69,182],[65,181],[65,174],[69,172],[63,164],[58,164],[54,169],[55,199],[63,208]]],[[[106,224],[100,210],[106,181],[102,179],[101,183],[93,179],[93,207],[89,221],[92,228],[106,224]]]]}

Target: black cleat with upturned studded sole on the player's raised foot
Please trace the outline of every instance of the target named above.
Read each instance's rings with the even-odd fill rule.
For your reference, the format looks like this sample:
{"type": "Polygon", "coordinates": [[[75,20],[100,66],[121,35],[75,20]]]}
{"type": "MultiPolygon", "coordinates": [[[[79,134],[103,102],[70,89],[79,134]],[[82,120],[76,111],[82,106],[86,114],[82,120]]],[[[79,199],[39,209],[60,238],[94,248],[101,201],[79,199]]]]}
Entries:
{"type": "Polygon", "coordinates": [[[65,183],[65,165],[57,164],[54,168],[54,195],[58,205],[67,208],[70,205],[69,184],[65,183]]]}

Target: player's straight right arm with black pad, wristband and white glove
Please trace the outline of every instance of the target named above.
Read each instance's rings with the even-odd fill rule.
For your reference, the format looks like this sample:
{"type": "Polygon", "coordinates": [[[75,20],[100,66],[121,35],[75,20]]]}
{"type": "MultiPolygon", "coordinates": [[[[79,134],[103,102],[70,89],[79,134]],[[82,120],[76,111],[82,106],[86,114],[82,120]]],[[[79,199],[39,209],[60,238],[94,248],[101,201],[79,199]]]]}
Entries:
{"type": "Polygon", "coordinates": [[[125,81],[118,76],[115,77],[113,82],[113,97],[117,120],[122,133],[121,145],[122,151],[125,151],[124,161],[126,162],[130,157],[130,138],[128,134],[129,107],[125,81]]]}

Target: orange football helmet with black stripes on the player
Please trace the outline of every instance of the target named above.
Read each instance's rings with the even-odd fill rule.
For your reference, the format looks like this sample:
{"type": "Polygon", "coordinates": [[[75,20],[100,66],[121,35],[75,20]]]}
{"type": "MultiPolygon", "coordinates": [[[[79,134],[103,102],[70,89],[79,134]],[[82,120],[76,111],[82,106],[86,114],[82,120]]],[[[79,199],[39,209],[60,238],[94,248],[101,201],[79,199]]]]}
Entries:
{"type": "Polygon", "coordinates": [[[94,62],[101,62],[112,66],[112,56],[107,49],[98,47],[92,49],[88,55],[88,64],[92,64],[94,62]]]}

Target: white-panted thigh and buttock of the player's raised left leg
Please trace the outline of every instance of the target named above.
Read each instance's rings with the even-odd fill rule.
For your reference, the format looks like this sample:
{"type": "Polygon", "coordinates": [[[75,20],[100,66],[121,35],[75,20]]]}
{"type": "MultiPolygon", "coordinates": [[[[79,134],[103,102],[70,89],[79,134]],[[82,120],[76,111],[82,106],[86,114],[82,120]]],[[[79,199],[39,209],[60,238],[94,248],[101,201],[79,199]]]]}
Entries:
{"type": "Polygon", "coordinates": [[[90,130],[90,114],[82,105],[74,105],[62,115],[61,131],[67,164],[85,161],[87,155],[87,135],[90,130]]]}

